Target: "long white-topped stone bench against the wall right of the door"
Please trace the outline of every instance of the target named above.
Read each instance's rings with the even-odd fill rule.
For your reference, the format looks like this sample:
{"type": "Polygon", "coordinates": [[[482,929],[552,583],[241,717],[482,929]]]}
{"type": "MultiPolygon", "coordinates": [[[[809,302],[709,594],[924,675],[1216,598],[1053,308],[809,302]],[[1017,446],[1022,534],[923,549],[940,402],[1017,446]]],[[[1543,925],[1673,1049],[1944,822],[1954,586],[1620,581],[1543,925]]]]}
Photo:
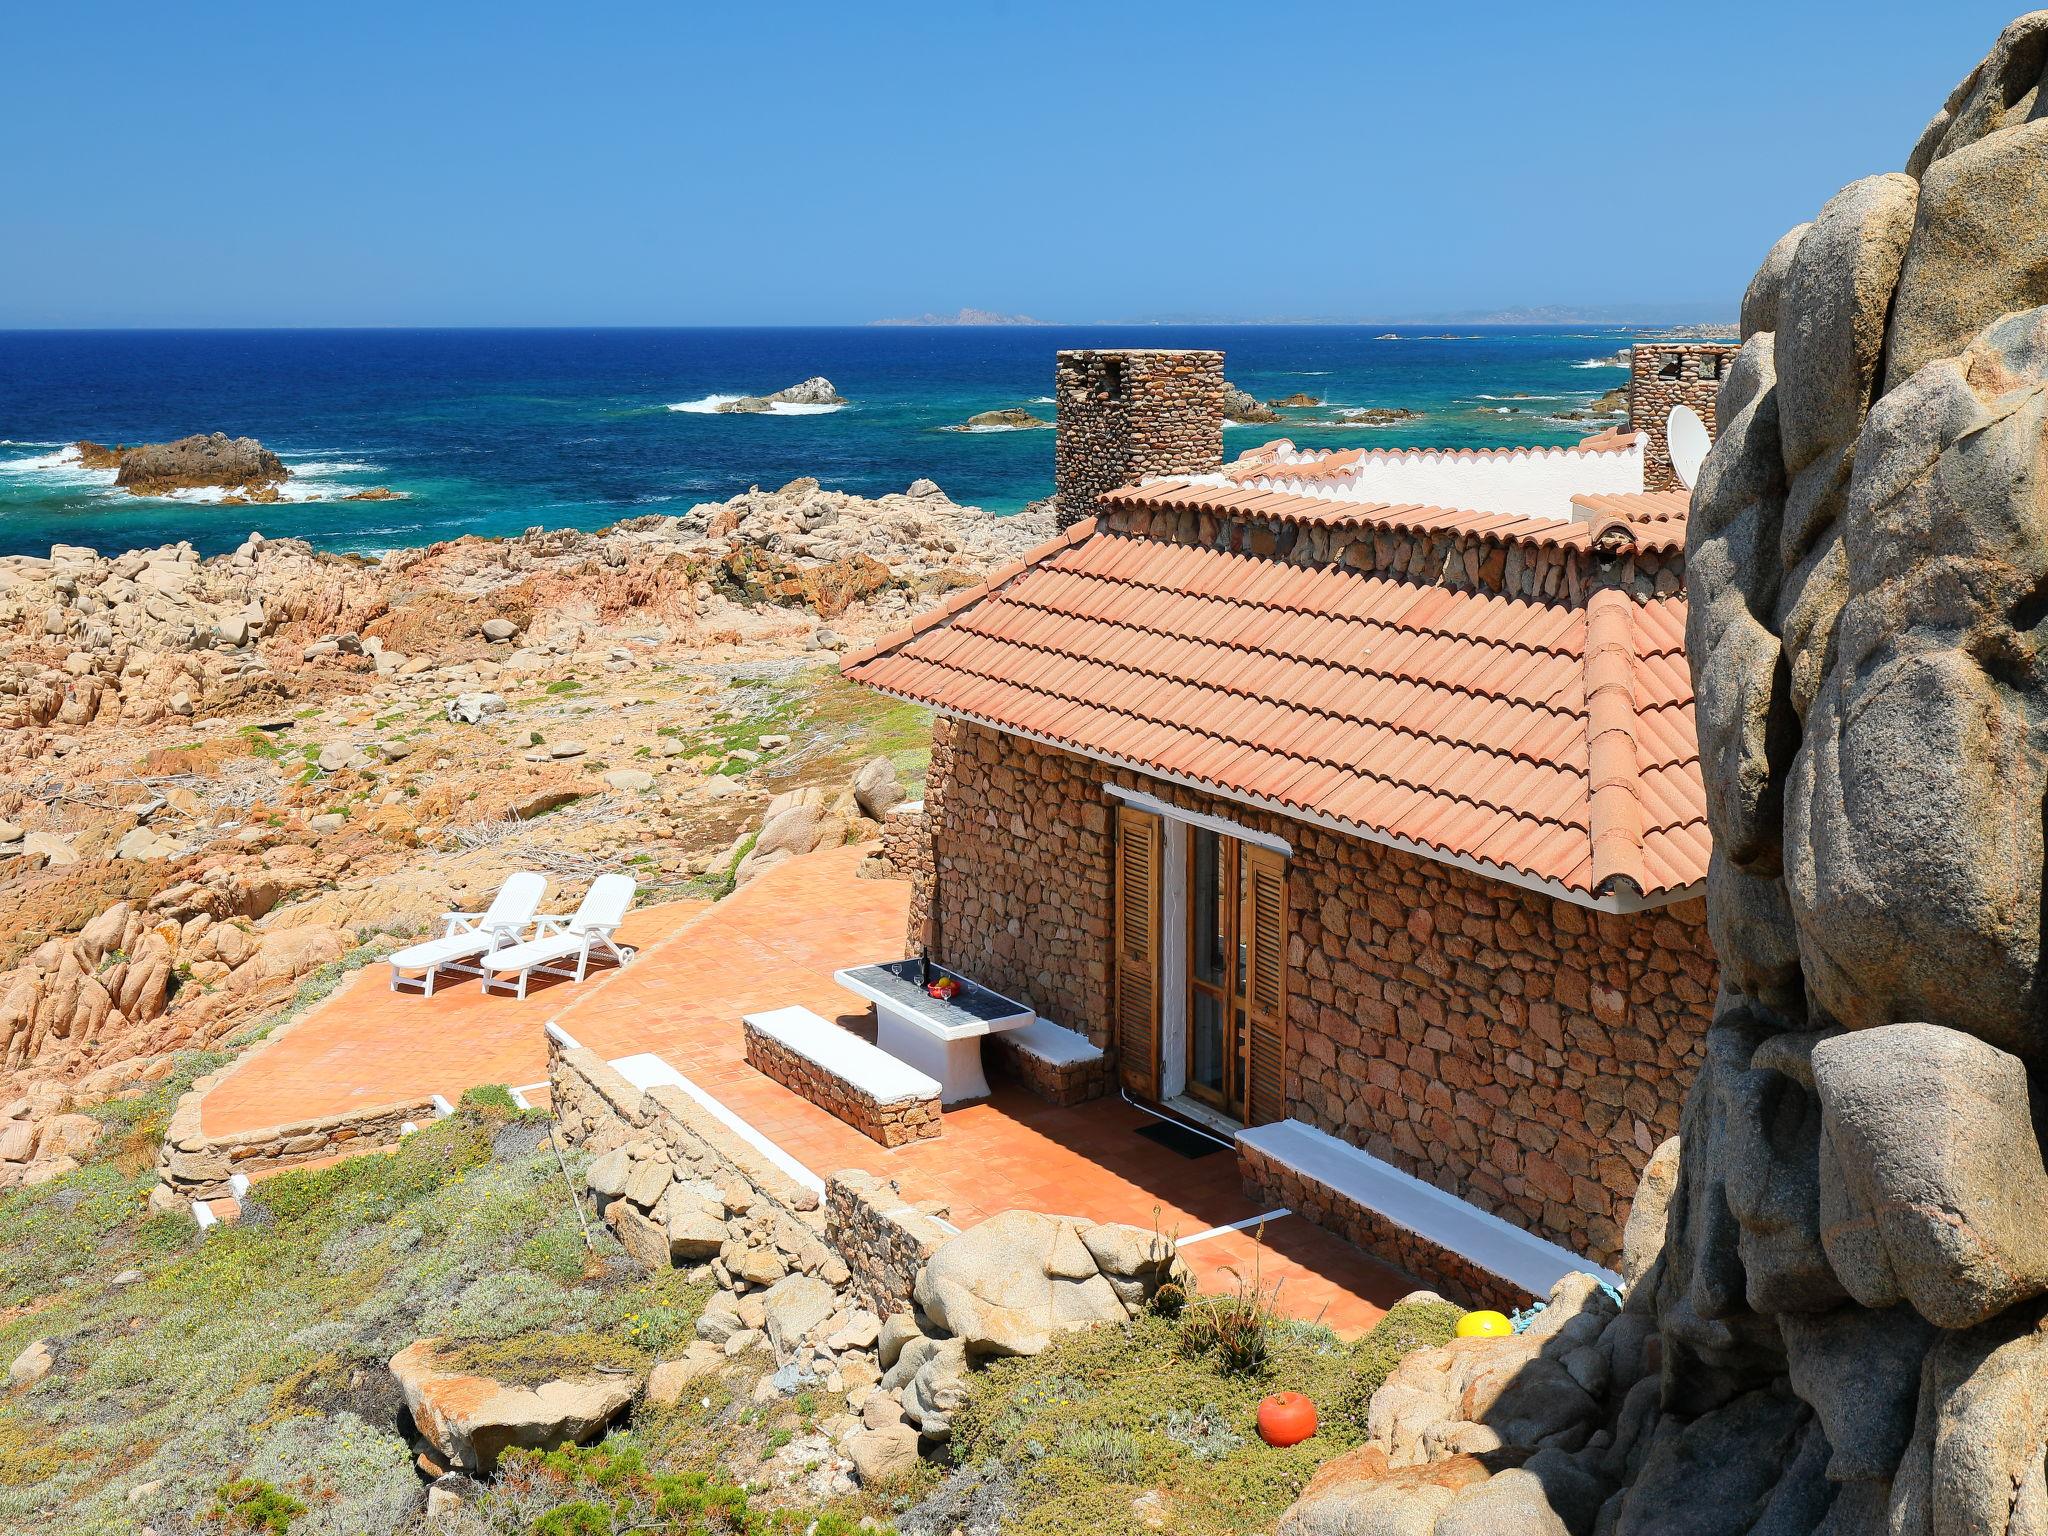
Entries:
{"type": "Polygon", "coordinates": [[[1239,1130],[1237,1167],[1249,1198],[1286,1206],[1454,1300],[1528,1307],[1573,1272],[1620,1284],[1569,1247],[1300,1120],[1239,1130]]]}

